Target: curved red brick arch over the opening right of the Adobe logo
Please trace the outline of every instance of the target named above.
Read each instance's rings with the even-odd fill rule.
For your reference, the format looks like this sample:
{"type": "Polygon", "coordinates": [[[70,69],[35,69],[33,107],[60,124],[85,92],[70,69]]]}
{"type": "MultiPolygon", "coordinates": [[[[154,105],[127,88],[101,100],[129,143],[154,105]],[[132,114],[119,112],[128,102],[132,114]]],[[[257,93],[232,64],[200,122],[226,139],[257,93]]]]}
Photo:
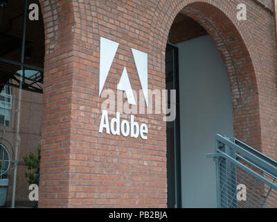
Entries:
{"type": "MultiPolygon", "coordinates": [[[[258,56],[255,55],[256,52],[253,50],[253,55],[252,57],[250,56],[246,44],[251,46],[253,44],[251,40],[244,41],[240,31],[238,31],[231,19],[220,8],[217,8],[230,8],[231,6],[234,7],[235,4],[229,6],[219,6],[217,2],[213,4],[210,1],[180,1],[172,6],[174,9],[170,17],[165,18],[165,21],[168,19],[166,27],[163,28],[162,26],[164,25],[157,22],[159,21],[158,18],[157,20],[154,19],[152,24],[155,24],[156,30],[163,31],[161,32],[160,40],[162,42],[161,45],[164,47],[168,39],[167,33],[169,33],[173,22],[172,19],[175,19],[179,12],[193,18],[205,28],[220,51],[229,76],[233,103],[234,136],[261,151],[259,93],[256,79],[257,72],[253,66],[253,62],[257,61],[252,60],[252,58],[258,58],[258,56]]],[[[165,4],[161,7],[167,8],[170,6],[165,4]]],[[[167,11],[170,10],[167,9],[167,11]]],[[[233,11],[235,16],[235,8],[233,11]]],[[[161,12],[163,12],[162,9],[161,12]]],[[[166,15],[164,16],[166,17],[166,15]]],[[[247,30],[247,27],[244,28],[247,30]]]]}

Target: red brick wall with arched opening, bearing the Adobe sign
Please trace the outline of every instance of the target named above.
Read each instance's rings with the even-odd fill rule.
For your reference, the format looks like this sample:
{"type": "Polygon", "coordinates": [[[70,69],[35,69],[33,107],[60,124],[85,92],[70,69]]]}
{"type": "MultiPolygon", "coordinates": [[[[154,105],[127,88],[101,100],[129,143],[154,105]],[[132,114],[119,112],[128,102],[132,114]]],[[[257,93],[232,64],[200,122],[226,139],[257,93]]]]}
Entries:
{"type": "Polygon", "coordinates": [[[148,53],[149,89],[164,89],[166,41],[181,10],[208,31],[222,54],[235,137],[277,159],[271,3],[267,9],[252,0],[41,3],[46,58],[39,207],[166,207],[163,116],[136,115],[148,124],[148,140],[98,133],[99,46],[100,36],[120,43],[104,89],[116,89],[124,66],[133,89],[141,89],[130,47],[148,53]],[[239,22],[242,2],[247,21],[239,22]]]}

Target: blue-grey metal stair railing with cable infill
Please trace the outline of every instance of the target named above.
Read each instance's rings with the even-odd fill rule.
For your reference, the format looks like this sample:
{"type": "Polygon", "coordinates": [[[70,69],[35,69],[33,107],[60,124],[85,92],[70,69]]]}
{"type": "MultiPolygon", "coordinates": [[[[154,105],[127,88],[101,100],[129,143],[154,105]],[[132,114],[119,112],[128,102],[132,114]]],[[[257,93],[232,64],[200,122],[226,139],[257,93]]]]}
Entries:
{"type": "Polygon", "coordinates": [[[277,162],[235,138],[215,135],[217,207],[276,208],[277,162]]]}

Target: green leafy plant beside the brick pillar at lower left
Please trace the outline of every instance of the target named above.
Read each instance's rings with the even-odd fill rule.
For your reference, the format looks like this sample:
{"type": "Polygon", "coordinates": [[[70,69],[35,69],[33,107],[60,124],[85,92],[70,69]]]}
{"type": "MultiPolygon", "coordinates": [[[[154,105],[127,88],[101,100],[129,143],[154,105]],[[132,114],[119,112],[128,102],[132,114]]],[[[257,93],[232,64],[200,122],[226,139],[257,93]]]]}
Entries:
{"type": "Polygon", "coordinates": [[[28,178],[28,183],[30,185],[38,185],[37,176],[39,174],[40,157],[40,144],[37,146],[37,157],[33,152],[30,152],[29,155],[23,157],[23,160],[28,167],[28,173],[25,173],[25,176],[28,178]]]}

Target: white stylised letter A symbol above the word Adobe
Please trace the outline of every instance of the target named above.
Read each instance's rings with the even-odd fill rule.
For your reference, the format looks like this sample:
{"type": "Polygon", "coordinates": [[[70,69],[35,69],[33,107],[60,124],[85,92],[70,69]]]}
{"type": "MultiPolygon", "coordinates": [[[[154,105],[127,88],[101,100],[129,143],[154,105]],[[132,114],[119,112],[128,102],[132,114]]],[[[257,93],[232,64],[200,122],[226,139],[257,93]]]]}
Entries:
{"type": "MultiPolygon", "coordinates": [[[[107,80],[109,69],[116,56],[119,44],[117,42],[100,37],[100,71],[99,71],[99,96],[107,80]]],[[[142,51],[132,49],[136,71],[139,74],[139,80],[143,89],[145,103],[148,106],[148,54],[142,51]]],[[[126,67],[124,67],[117,89],[125,91],[129,104],[136,105],[133,89],[129,82],[126,67]]]]}

